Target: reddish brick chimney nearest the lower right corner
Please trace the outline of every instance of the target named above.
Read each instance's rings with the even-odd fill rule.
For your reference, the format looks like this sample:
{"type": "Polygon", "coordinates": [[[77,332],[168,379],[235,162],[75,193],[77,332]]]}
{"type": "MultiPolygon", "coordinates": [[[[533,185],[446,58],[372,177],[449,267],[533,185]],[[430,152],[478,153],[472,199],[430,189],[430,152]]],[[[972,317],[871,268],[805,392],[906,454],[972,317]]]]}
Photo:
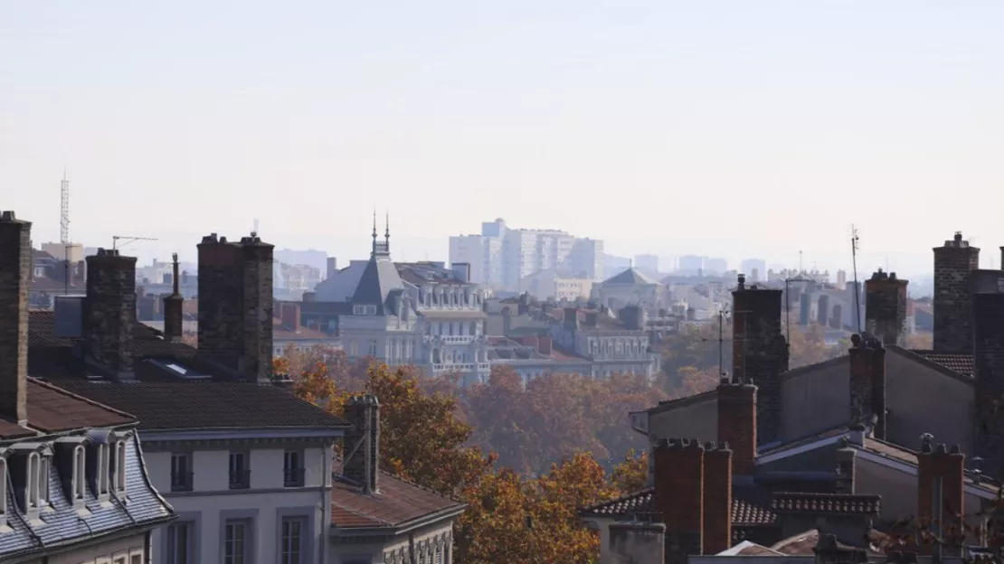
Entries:
{"type": "MultiPolygon", "coordinates": [[[[933,521],[936,531],[950,546],[965,539],[965,465],[966,456],[958,445],[935,446],[931,435],[921,438],[921,451],[917,454],[917,515],[921,524],[933,521]]],[[[930,544],[921,548],[931,553],[930,544]]]]}

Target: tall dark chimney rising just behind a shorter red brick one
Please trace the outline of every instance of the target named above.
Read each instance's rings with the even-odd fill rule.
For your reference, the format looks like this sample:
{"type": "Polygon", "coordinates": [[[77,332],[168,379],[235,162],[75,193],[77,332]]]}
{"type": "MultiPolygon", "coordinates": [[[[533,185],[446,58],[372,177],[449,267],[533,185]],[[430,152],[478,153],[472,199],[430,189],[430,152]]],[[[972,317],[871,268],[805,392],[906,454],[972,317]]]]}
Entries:
{"type": "Polygon", "coordinates": [[[735,381],[757,385],[757,440],[780,436],[781,381],[788,370],[788,344],[781,334],[781,290],[739,284],[732,292],[732,371],[735,381]]]}

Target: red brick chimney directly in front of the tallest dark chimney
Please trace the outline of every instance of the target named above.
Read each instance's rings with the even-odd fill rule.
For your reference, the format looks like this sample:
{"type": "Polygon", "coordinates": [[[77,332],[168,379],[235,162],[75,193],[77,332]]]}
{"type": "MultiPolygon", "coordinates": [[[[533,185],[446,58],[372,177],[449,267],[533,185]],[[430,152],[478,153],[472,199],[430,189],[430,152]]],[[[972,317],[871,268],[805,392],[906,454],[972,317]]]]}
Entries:
{"type": "MultiPolygon", "coordinates": [[[[752,476],[756,461],[757,387],[722,378],[718,386],[718,441],[732,449],[732,472],[752,476]]],[[[724,549],[723,549],[724,550],[724,549]]]]}

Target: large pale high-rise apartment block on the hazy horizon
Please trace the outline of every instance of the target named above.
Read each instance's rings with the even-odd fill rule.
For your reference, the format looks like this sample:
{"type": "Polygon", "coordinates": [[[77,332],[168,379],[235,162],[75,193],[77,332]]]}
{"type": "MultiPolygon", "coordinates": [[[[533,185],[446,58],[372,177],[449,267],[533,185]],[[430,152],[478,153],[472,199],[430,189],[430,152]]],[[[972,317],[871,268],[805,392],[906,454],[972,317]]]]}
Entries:
{"type": "Polygon", "coordinates": [[[450,238],[450,262],[471,265],[471,282],[516,291],[526,276],[559,269],[602,277],[603,242],[564,231],[510,229],[501,218],[481,224],[481,235],[450,238]]]}

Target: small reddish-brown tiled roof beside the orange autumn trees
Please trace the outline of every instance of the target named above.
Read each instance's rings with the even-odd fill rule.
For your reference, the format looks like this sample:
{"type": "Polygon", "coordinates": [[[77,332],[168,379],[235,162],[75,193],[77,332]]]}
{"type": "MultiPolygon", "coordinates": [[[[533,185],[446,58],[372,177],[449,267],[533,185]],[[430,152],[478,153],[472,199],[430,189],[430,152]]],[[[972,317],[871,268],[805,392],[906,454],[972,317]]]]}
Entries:
{"type": "Polygon", "coordinates": [[[410,482],[381,473],[380,493],[336,480],[331,489],[331,526],[336,529],[401,527],[435,514],[457,515],[467,506],[410,482]]]}

